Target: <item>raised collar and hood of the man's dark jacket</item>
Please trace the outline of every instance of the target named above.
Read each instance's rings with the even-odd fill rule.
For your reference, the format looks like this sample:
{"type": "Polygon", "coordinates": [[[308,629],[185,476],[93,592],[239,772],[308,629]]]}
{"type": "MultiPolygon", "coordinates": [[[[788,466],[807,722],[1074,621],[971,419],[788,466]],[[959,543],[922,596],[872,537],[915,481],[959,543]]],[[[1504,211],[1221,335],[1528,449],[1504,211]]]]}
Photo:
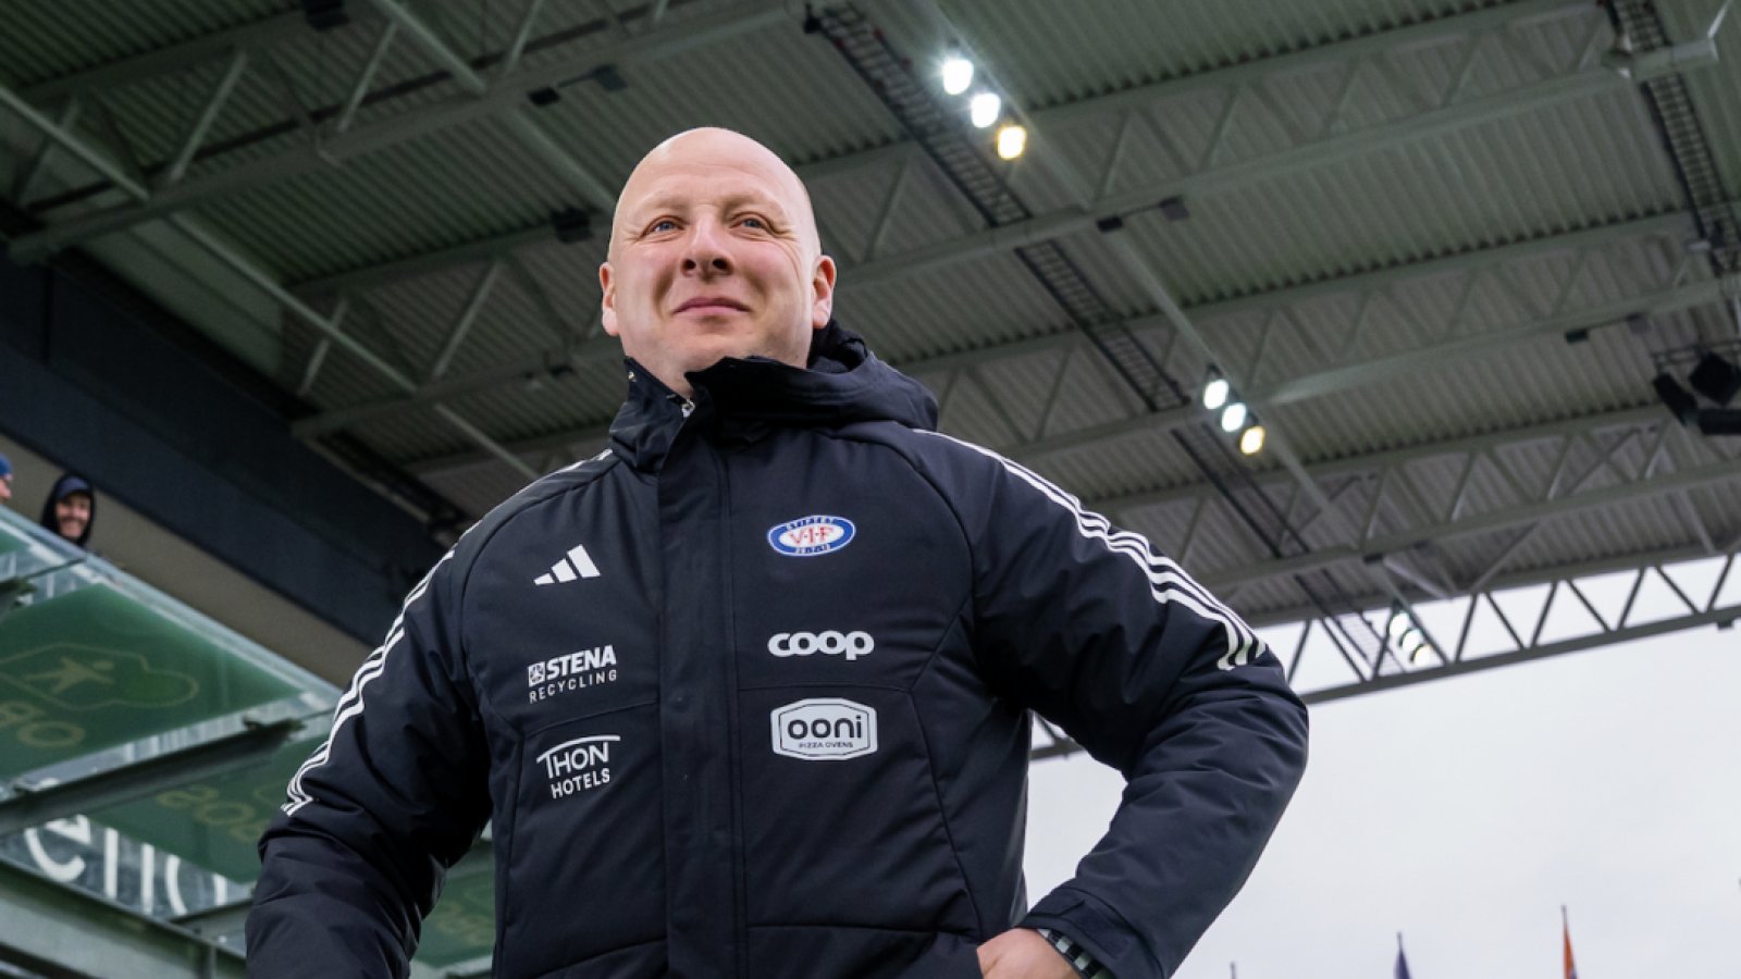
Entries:
{"type": "Polygon", "coordinates": [[[625,361],[629,397],[611,423],[611,448],[635,469],[658,470],[684,420],[719,442],[750,442],[780,427],[839,427],[890,420],[937,427],[937,401],[879,361],[850,329],[829,322],[801,369],[768,357],[728,357],[688,375],[686,401],[635,361],[625,361]]]}

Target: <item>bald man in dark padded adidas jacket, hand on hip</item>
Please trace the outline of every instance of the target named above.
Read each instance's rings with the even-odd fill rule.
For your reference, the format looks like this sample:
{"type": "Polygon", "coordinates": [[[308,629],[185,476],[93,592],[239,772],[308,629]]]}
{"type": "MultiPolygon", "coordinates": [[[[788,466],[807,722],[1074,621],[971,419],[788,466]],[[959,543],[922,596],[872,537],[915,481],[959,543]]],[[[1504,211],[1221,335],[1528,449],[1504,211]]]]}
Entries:
{"type": "Polygon", "coordinates": [[[832,321],[776,155],[656,146],[599,268],[602,453],[413,589],[261,840],[256,976],[406,976],[493,826],[498,977],[1172,974],[1306,756],[1255,634],[1069,493],[937,434],[832,321]],[[1022,883],[1036,711],[1128,787],[1022,883]]]}

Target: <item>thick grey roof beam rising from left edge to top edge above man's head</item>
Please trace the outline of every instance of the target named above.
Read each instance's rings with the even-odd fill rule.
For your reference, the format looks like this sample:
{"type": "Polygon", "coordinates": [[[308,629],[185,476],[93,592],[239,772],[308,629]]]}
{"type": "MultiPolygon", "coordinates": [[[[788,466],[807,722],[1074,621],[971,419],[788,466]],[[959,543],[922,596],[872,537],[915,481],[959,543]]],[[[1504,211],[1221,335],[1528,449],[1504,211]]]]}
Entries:
{"type": "MultiPolygon", "coordinates": [[[[381,2],[387,3],[387,0],[381,2]]],[[[397,3],[387,5],[399,9],[397,3]]],[[[693,51],[696,47],[705,47],[717,40],[752,33],[785,23],[787,19],[789,14],[783,3],[770,0],[747,0],[735,7],[698,16],[684,21],[682,24],[660,28],[658,31],[646,33],[606,49],[594,49],[575,54],[573,57],[540,64],[534,70],[486,87],[482,94],[467,94],[407,110],[367,127],[353,127],[343,134],[326,139],[319,146],[294,145],[270,157],[240,162],[200,179],[183,181],[164,190],[160,195],[139,199],[138,204],[106,207],[50,225],[40,232],[14,239],[10,254],[19,261],[38,261],[63,247],[71,247],[94,237],[131,228],[145,221],[165,218],[186,207],[197,207],[219,197],[242,193],[294,176],[326,171],[334,165],[334,160],[343,162],[350,157],[373,153],[376,150],[418,139],[432,132],[440,132],[454,125],[496,118],[510,111],[519,113],[522,111],[521,106],[526,105],[526,92],[568,82],[576,75],[585,75],[606,64],[625,66],[655,61],[684,51],[693,51]]],[[[477,77],[472,75],[472,78],[477,77]]],[[[461,84],[465,84],[463,78],[461,84]]],[[[477,92],[479,89],[472,91],[477,92]]],[[[561,153],[561,148],[550,143],[548,136],[543,136],[541,132],[531,132],[529,139],[534,152],[541,155],[548,155],[552,150],[561,153]]],[[[548,159],[557,160],[557,157],[548,159]]],[[[104,176],[115,179],[111,174],[104,172],[104,176]]],[[[581,178],[573,171],[566,171],[566,176],[571,183],[580,186],[590,179],[581,178]]],[[[606,200],[604,211],[609,211],[609,206],[613,204],[615,200],[606,200]]]]}

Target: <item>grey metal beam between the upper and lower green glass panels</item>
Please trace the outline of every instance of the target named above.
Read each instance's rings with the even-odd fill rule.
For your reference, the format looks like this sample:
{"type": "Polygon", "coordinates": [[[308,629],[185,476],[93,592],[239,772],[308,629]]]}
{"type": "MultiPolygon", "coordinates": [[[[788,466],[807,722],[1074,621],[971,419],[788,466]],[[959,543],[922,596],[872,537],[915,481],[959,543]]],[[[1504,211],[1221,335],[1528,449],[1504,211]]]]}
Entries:
{"type": "Polygon", "coordinates": [[[56,782],[42,789],[16,787],[16,796],[0,801],[0,836],[139,800],[188,782],[252,768],[284,747],[303,730],[305,723],[320,723],[322,719],[324,716],[287,718],[249,726],[192,747],[153,754],[143,761],[131,761],[70,782],[56,782]]]}

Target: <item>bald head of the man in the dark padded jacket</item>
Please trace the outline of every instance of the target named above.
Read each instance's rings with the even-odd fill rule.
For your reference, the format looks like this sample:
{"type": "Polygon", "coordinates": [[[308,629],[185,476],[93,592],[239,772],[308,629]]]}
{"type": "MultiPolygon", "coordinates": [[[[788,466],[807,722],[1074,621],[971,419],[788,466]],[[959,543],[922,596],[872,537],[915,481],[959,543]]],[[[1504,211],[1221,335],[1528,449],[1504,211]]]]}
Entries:
{"type": "Polygon", "coordinates": [[[684,373],[723,357],[803,368],[834,308],[834,260],[803,181],[728,129],[679,132],[635,165],[599,284],[604,331],[684,395],[684,373]]]}

